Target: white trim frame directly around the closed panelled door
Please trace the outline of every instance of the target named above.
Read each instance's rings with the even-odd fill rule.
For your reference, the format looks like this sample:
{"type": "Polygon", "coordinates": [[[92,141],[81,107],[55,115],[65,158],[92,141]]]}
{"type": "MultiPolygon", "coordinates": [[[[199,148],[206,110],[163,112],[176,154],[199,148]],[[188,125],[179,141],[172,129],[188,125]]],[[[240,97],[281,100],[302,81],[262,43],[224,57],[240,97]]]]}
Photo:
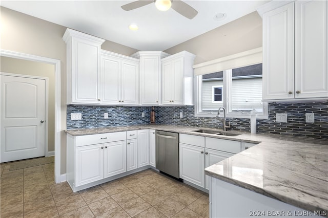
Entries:
{"type": "MultiPolygon", "coordinates": [[[[14,77],[24,77],[24,78],[30,78],[30,79],[43,79],[45,80],[45,120],[48,122],[48,106],[49,106],[49,79],[47,77],[42,76],[32,76],[32,75],[24,75],[24,74],[15,74],[15,73],[6,73],[6,72],[0,72],[0,75],[5,76],[14,76],[14,77]]],[[[45,125],[45,157],[48,157],[48,124],[45,125]]]]}

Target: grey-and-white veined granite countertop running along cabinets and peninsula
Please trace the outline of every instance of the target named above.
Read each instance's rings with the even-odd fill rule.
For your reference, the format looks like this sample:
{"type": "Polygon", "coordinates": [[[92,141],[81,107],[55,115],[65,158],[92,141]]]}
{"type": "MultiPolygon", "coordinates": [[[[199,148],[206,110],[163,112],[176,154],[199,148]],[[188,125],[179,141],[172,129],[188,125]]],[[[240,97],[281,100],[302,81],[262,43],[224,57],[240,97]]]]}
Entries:
{"type": "Polygon", "coordinates": [[[327,140],[249,133],[234,137],[221,136],[192,132],[200,127],[176,125],[105,127],[66,132],[72,136],[81,136],[145,128],[258,143],[207,167],[206,175],[304,210],[328,211],[327,140]]]}

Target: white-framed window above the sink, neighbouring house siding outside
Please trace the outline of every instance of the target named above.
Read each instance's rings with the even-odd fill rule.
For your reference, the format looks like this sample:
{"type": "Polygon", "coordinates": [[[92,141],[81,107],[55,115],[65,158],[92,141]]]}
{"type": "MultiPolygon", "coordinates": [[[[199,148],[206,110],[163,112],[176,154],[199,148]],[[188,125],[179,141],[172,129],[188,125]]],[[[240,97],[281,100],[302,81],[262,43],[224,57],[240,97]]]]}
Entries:
{"type": "Polygon", "coordinates": [[[262,63],[196,76],[195,116],[212,117],[220,106],[227,117],[268,117],[268,104],[262,102],[262,63]]]}

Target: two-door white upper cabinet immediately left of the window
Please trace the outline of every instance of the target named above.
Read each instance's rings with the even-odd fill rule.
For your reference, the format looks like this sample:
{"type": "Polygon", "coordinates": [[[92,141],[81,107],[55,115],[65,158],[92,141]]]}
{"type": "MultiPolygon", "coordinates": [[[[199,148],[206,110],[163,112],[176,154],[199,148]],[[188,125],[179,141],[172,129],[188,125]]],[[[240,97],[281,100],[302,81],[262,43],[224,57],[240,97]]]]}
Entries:
{"type": "Polygon", "coordinates": [[[162,58],[162,104],[194,104],[195,55],[183,51],[162,58]]]}

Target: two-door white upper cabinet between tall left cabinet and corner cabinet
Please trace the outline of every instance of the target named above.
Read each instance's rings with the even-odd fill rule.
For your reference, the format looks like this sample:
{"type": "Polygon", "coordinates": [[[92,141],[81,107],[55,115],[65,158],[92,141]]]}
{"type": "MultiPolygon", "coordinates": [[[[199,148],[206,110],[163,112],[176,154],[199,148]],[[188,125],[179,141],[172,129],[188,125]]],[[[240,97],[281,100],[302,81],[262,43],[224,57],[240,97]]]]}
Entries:
{"type": "Polygon", "coordinates": [[[101,51],[101,103],[139,103],[139,60],[101,51]]]}

